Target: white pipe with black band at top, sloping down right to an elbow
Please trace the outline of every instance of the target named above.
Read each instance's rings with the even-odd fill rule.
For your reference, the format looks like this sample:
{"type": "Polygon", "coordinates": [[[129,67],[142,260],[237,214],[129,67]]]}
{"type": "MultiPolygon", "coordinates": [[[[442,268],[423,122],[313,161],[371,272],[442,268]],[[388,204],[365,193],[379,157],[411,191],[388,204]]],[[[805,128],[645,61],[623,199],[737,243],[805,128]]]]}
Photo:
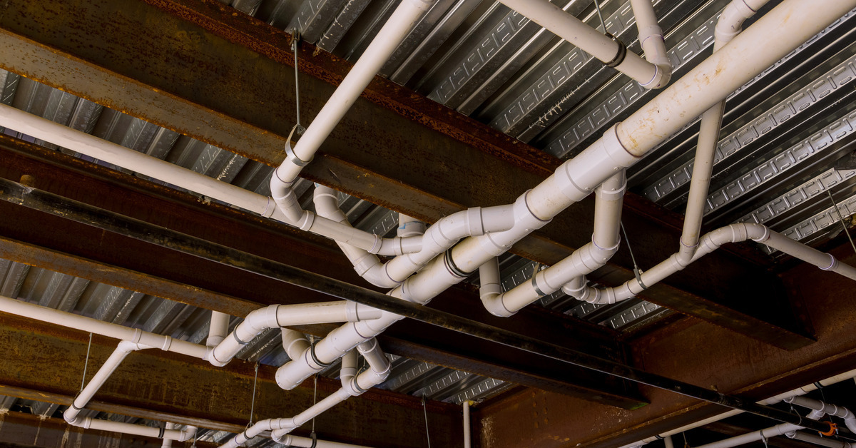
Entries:
{"type": "MultiPolygon", "coordinates": [[[[663,87],[663,71],[645,61],[623,44],[609,39],[548,0],[499,0],[538,25],[547,28],[562,39],[574,44],[603,63],[618,63],[615,69],[630,76],[646,88],[663,87]],[[622,50],[623,48],[623,50],[622,50]],[[623,53],[623,60],[621,59],[623,53]],[[618,60],[616,60],[618,59],[618,60]]],[[[605,31],[605,30],[604,30],[605,31]]]]}

